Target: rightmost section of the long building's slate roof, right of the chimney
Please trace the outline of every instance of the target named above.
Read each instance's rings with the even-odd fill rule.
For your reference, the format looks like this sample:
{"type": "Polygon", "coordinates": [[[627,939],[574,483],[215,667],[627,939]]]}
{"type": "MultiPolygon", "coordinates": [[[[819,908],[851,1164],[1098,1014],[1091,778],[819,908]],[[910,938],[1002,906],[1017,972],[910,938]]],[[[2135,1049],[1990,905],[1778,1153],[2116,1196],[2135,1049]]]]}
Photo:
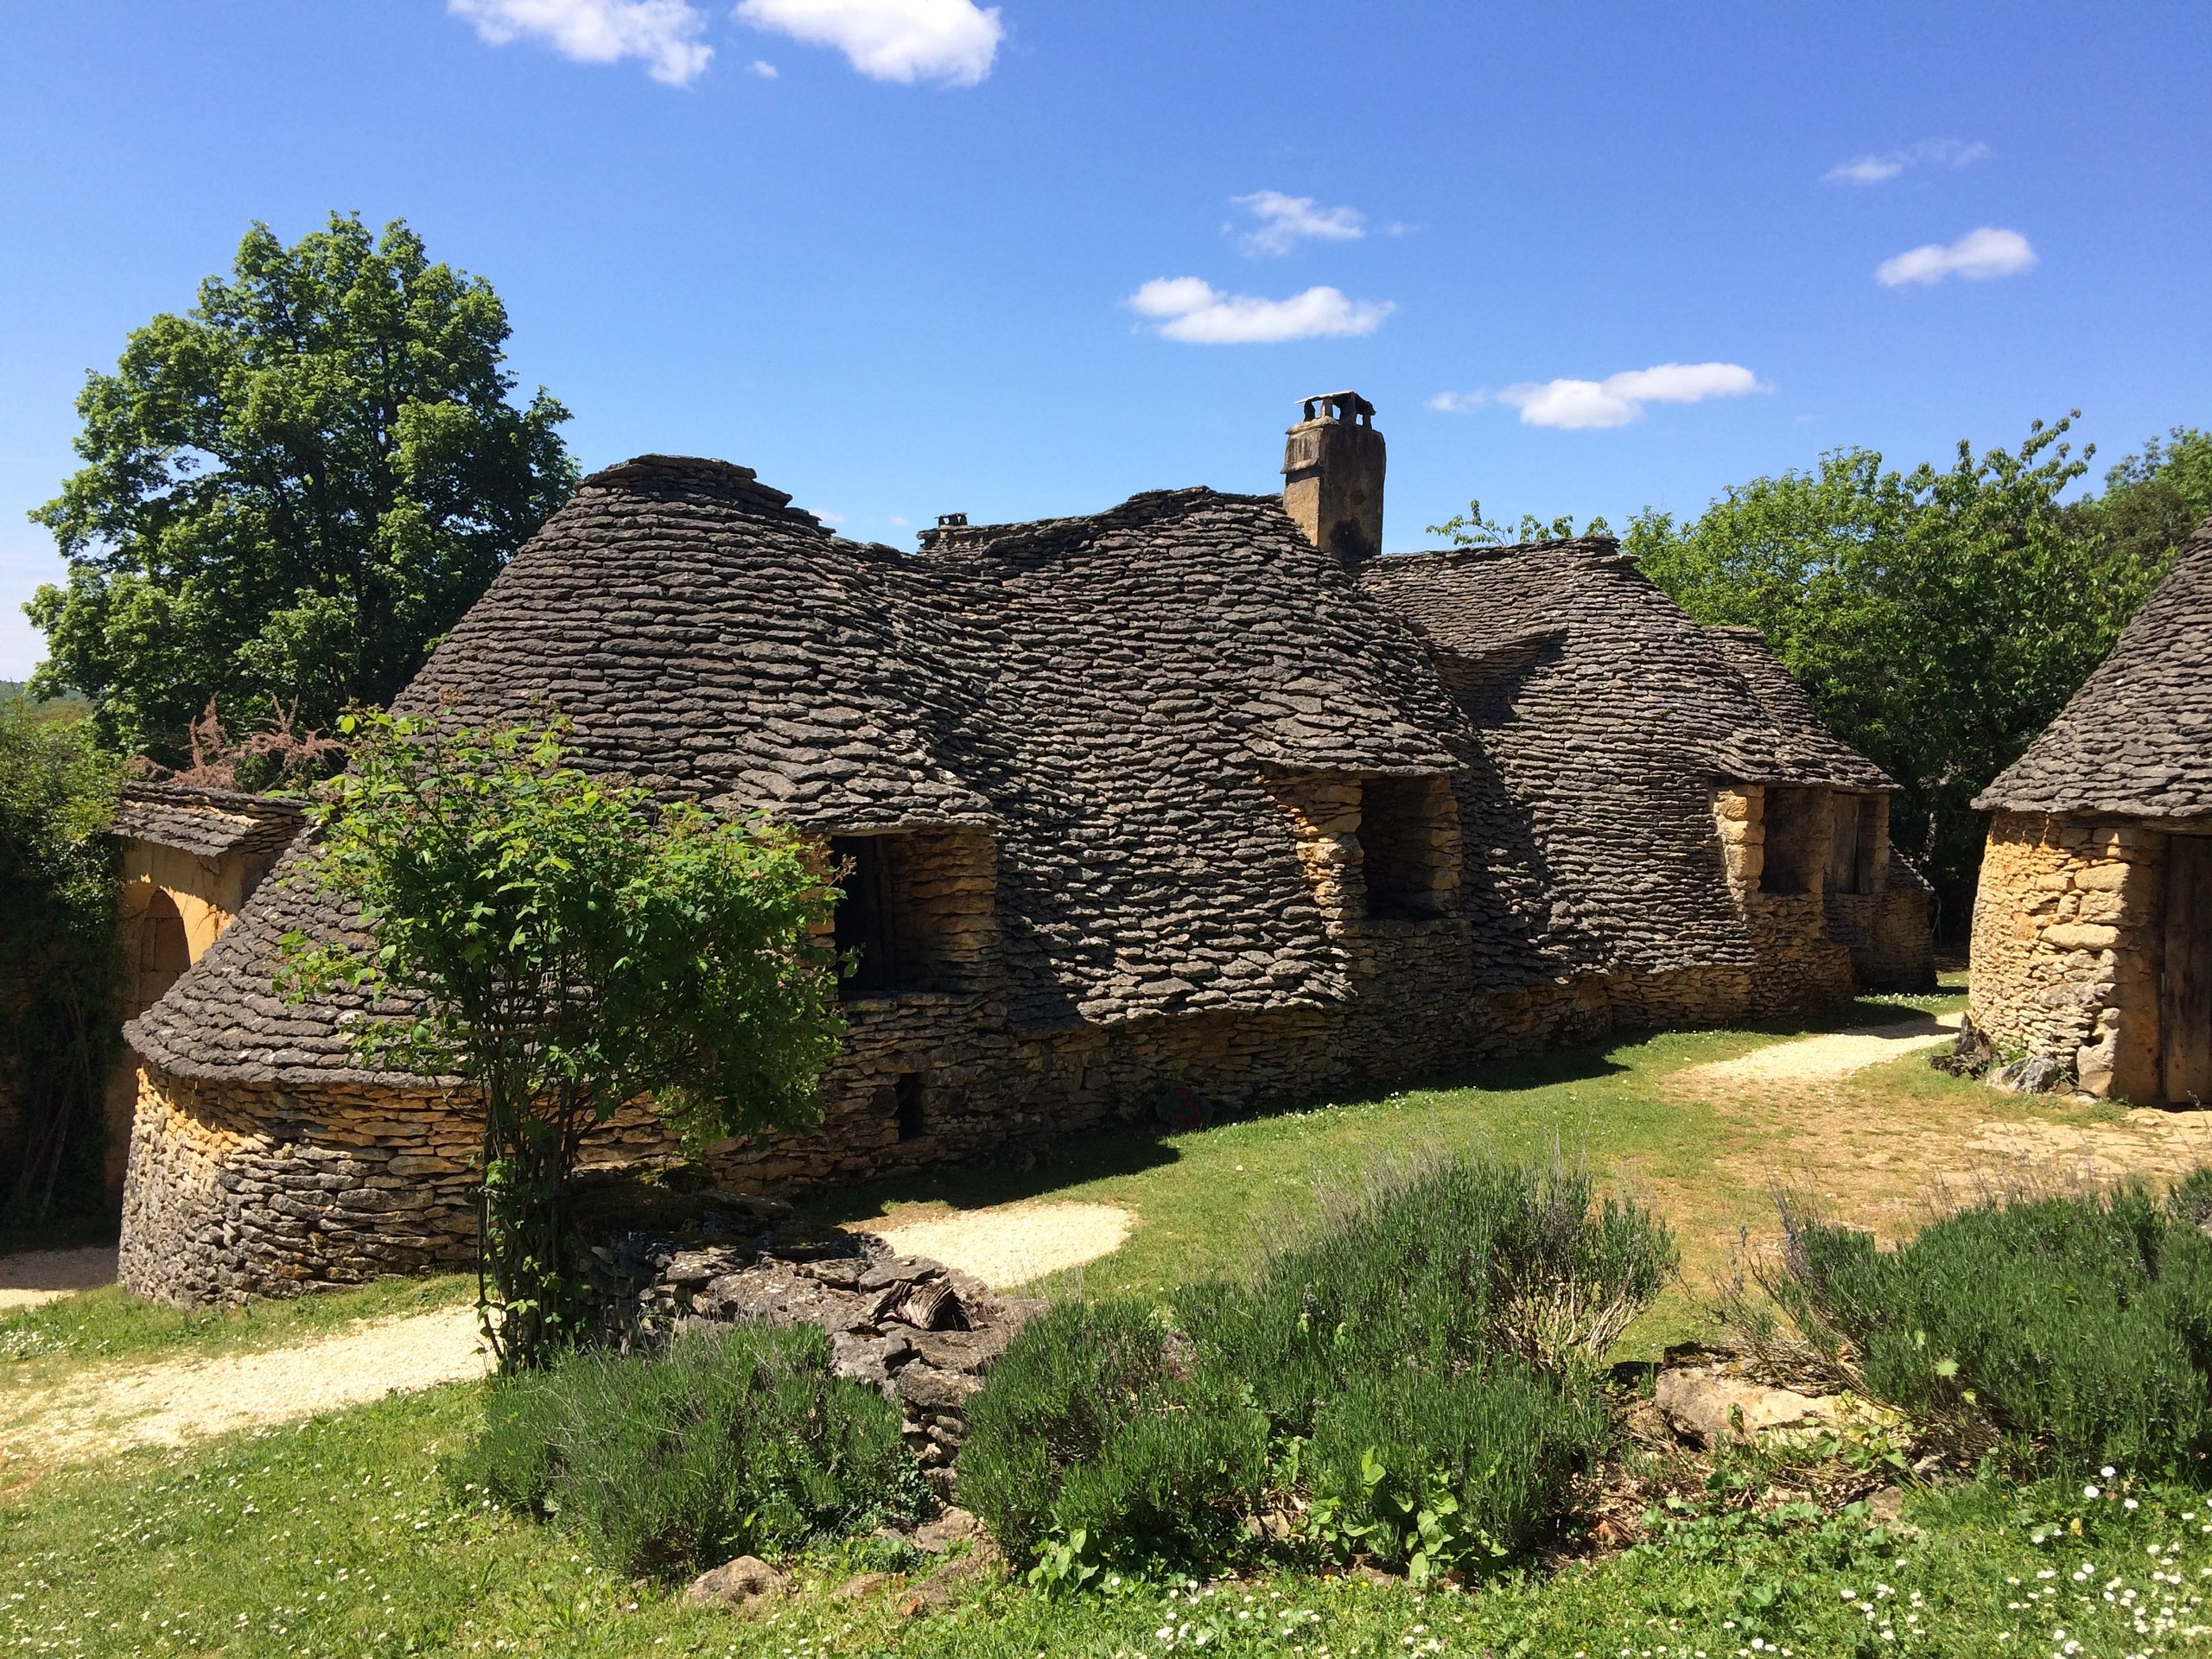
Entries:
{"type": "Polygon", "coordinates": [[[1747,964],[1712,785],[1891,787],[1765,684],[1794,686],[1756,637],[1694,624],[1610,538],[1402,553],[1363,582],[1480,730],[1467,902],[1524,973],[1747,964]]]}

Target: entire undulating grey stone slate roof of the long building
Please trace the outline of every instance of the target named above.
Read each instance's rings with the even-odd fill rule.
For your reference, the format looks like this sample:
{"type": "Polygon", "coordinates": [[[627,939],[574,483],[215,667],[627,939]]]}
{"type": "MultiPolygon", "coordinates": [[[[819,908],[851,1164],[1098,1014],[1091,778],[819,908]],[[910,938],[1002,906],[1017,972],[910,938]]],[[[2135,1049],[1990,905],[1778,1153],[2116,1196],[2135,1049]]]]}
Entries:
{"type": "MultiPolygon", "coordinates": [[[[1847,770],[1787,743],[1610,542],[1354,571],[1276,495],[1210,489],[927,542],[854,544],[750,469],[644,456],[584,482],[396,708],[557,708],[591,768],[821,832],[989,827],[993,1000],[1033,1031],[1347,993],[1276,772],[1491,779],[1467,830],[1469,863],[1495,874],[1469,907],[1506,942],[1489,980],[1511,982],[1599,958],[1747,960],[1708,779],[1847,770]],[[1621,787],[1663,796],[1666,823],[1590,827],[1621,787]],[[1531,810],[1551,814],[1542,845],[1531,810]]],[[[288,883],[299,856],[133,1022],[148,1060],[358,1075],[338,1004],[270,991],[285,931],[347,925],[288,883]]]]}

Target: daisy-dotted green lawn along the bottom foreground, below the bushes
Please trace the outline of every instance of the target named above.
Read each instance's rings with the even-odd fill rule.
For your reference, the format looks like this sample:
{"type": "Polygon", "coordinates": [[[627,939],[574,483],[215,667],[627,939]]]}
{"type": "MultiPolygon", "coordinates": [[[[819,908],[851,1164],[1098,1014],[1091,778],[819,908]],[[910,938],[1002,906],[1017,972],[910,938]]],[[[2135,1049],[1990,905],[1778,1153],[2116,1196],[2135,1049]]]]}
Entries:
{"type": "Polygon", "coordinates": [[[1283,1573],[1197,1595],[1168,1579],[1079,1597],[1009,1584],[905,1617],[896,1579],[858,1601],[832,1595],[858,1568],[900,1564],[849,1544],[801,1557],[799,1595],[739,1619],[595,1568],[555,1526],[456,1502],[438,1464],[473,1433],[480,1398],[449,1387],[192,1453],[133,1453],[0,1500],[0,1652],[1610,1659],[1661,1644],[1739,1655],[1759,1637],[1792,1655],[1986,1659],[2051,1652],[2064,1628],[2081,1655],[2119,1659],[2205,1652],[2203,1639],[2137,1635],[2139,1610],[2161,1601],[2183,1626],[2212,1624],[2203,1500],[2146,1491],[2126,1511],[2110,1495],[1989,1484],[1916,1498],[1918,1535],[1851,1515],[1686,1513],[1648,1548],[1473,1595],[1283,1573]]]}

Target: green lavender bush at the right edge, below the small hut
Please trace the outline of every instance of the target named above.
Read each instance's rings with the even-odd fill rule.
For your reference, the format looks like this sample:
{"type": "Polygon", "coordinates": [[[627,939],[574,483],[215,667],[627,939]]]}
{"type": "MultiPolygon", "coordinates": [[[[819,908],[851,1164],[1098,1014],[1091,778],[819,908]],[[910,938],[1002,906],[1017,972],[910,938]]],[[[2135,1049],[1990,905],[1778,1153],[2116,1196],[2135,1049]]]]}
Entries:
{"type": "Polygon", "coordinates": [[[2055,1473],[2203,1469],[2212,1239],[2177,1210],[2141,1188],[1991,1199],[1896,1250],[1790,1217],[1770,1290],[1874,1398],[1969,1447],[2055,1473]]]}

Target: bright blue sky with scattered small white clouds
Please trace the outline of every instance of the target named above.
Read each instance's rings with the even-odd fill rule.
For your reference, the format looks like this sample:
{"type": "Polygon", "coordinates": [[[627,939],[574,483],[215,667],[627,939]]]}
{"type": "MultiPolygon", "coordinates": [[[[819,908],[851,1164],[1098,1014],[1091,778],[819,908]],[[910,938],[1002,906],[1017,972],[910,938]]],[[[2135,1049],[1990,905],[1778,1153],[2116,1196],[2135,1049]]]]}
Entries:
{"type": "Polygon", "coordinates": [[[1391,549],[1697,511],[1869,445],[2212,422],[2212,7],[11,0],[0,677],[71,400],[250,221],[489,276],[586,467],[911,544],[1274,489],[1310,392],[1391,549]]]}

